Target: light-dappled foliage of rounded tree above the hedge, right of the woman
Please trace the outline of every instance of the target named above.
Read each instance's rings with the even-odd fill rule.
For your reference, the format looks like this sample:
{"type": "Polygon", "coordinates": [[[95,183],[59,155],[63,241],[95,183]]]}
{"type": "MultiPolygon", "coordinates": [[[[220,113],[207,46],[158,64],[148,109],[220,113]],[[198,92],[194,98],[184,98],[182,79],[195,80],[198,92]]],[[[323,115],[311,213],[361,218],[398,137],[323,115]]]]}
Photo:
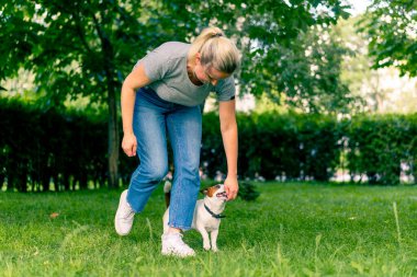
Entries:
{"type": "MultiPolygon", "coordinates": [[[[311,26],[296,39],[269,50],[266,64],[269,83],[256,85],[253,93],[304,113],[354,113],[358,101],[340,79],[341,64],[352,53],[341,44],[334,26],[311,26]]],[[[264,69],[263,69],[264,70],[264,69]]],[[[259,69],[261,71],[261,69],[259,69]]]]}

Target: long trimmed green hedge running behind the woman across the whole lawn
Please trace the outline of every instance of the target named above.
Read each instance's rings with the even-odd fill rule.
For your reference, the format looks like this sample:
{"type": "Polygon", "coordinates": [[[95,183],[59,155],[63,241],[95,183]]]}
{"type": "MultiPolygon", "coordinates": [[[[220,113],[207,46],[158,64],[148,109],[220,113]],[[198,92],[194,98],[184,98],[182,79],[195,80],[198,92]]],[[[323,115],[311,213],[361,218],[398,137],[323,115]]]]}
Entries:
{"type": "MultiPolygon", "coordinates": [[[[401,165],[416,180],[417,115],[336,120],[298,114],[238,115],[241,178],[328,181],[337,170],[371,184],[399,183],[401,165]]],[[[106,185],[108,126],[103,118],[46,112],[0,100],[0,184],[57,191],[106,185]]],[[[136,159],[121,153],[127,183],[136,159]]],[[[203,118],[201,164],[208,177],[226,172],[218,116],[203,118]]],[[[404,171],[404,169],[403,169],[404,171]]]]}

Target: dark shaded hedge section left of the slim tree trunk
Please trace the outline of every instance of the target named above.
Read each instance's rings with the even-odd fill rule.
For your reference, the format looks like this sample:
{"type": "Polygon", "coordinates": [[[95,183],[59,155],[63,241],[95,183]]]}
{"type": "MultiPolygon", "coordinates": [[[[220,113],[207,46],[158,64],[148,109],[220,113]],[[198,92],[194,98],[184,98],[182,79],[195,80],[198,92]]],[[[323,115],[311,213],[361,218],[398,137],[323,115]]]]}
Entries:
{"type": "Polygon", "coordinates": [[[0,183],[20,192],[104,186],[105,136],[102,117],[54,109],[40,112],[18,101],[1,101],[0,183]]]}

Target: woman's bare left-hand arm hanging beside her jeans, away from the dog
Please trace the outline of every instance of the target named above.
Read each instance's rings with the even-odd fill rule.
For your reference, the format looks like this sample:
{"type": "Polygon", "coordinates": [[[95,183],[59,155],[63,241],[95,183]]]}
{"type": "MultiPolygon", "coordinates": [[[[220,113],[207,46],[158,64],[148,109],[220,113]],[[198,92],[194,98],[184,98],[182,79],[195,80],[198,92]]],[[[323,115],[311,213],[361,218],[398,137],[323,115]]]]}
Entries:
{"type": "Polygon", "coordinates": [[[150,83],[143,65],[138,65],[127,76],[122,85],[121,105],[123,122],[122,149],[128,155],[136,155],[137,141],[133,134],[133,111],[135,106],[136,90],[150,83]]]}

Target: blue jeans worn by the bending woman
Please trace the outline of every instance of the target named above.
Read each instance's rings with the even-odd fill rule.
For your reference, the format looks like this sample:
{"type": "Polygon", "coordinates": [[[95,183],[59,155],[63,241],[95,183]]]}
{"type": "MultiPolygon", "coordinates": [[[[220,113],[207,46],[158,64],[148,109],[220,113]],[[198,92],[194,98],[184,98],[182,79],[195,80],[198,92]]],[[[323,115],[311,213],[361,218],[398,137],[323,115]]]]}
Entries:
{"type": "Polygon", "coordinates": [[[169,226],[189,230],[200,188],[200,106],[189,107],[167,102],[151,89],[139,89],[136,92],[133,130],[140,164],[131,178],[128,204],[134,211],[140,212],[151,192],[167,175],[168,132],[174,165],[169,226]]]}

